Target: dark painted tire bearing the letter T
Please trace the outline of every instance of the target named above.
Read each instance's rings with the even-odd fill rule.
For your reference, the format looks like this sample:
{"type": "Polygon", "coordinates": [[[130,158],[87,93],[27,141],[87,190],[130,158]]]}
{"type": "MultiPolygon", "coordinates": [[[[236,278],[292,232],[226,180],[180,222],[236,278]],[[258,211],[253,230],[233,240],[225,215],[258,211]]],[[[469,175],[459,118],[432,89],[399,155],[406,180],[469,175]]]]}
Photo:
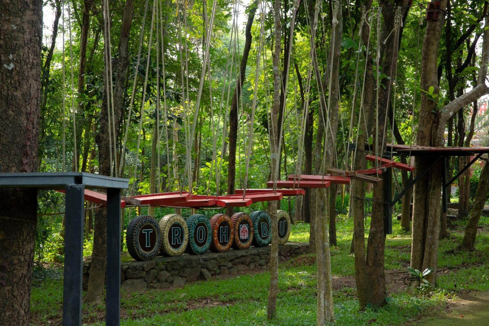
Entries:
{"type": "Polygon", "coordinates": [[[137,216],[129,222],[126,245],[129,255],[136,260],[151,260],[158,255],[160,233],[156,220],[149,216],[137,216]]]}

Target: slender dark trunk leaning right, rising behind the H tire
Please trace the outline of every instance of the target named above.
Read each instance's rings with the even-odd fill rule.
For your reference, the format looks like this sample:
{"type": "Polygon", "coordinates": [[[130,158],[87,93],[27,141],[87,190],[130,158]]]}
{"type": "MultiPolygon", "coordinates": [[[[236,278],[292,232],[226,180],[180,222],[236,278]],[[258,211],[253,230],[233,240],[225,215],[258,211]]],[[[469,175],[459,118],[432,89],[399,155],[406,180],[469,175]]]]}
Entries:
{"type": "MultiPolygon", "coordinates": [[[[238,104],[241,96],[241,88],[243,87],[244,77],[246,72],[246,63],[248,62],[249,50],[251,48],[251,27],[253,26],[253,20],[255,19],[255,13],[258,1],[254,0],[249,5],[248,21],[244,29],[244,49],[243,56],[241,57],[239,81],[236,81],[236,88],[234,89],[233,99],[231,101],[231,107],[229,108],[229,157],[227,166],[227,194],[234,194],[234,187],[236,181],[236,141],[238,140],[238,104]]],[[[226,208],[226,214],[231,216],[234,214],[232,207],[226,208]]]]}

